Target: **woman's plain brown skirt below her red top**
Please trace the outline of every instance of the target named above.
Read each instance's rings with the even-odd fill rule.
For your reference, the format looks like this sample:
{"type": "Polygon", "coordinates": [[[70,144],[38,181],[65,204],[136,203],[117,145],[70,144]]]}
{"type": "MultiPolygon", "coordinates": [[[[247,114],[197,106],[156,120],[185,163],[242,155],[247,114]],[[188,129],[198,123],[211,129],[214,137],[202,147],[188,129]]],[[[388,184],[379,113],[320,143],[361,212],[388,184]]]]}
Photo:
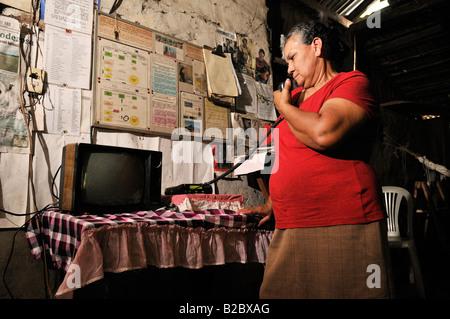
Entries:
{"type": "Polygon", "coordinates": [[[277,229],[262,299],[392,298],[386,221],[277,229]]]}

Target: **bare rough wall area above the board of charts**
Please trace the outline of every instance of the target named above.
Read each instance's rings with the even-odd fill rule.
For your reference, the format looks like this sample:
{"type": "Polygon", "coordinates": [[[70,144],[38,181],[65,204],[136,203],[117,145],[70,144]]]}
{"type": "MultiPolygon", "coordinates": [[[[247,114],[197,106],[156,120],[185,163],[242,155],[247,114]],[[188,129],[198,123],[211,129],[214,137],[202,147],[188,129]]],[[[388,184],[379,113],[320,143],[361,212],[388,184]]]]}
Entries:
{"type": "MultiPolygon", "coordinates": [[[[102,0],[100,8],[108,13],[113,2],[102,0]]],[[[221,28],[269,52],[267,11],[265,0],[127,0],[113,14],[199,46],[215,46],[221,28]]]]}

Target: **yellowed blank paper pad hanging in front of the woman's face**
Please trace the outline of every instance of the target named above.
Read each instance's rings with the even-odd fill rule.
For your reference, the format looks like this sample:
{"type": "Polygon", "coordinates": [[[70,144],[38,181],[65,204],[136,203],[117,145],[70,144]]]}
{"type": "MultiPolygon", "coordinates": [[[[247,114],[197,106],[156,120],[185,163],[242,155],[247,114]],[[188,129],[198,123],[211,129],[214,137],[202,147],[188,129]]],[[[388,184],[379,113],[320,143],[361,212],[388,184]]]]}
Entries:
{"type": "Polygon", "coordinates": [[[239,95],[233,65],[229,55],[219,56],[212,50],[203,49],[206,66],[208,97],[224,95],[236,97],[239,95]]]}

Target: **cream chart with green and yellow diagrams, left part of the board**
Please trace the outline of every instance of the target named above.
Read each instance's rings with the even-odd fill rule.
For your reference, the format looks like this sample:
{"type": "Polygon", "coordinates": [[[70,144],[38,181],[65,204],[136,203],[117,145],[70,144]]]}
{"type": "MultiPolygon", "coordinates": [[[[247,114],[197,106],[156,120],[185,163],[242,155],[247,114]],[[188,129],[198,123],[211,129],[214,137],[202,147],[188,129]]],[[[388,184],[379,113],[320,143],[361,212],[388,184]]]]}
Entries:
{"type": "Polygon", "coordinates": [[[150,53],[98,38],[96,124],[148,129],[150,53]]]}

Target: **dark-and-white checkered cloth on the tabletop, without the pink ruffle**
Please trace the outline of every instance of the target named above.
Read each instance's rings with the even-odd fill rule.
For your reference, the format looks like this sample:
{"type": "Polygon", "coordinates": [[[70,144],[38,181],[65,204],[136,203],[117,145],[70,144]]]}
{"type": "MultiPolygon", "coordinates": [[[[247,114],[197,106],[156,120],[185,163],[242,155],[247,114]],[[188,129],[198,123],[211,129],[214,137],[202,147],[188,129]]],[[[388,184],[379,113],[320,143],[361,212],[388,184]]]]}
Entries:
{"type": "Polygon", "coordinates": [[[258,215],[240,215],[231,210],[209,209],[205,211],[141,211],[135,213],[73,216],[57,210],[48,210],[32,219],[26,231],[31,253],[39,259],[43,244],[57,268],[67,270],[81,244],[81,234],[89,229],[105,225],[121,224],[179,225],[182,227],[256,228],[258,215]]]}

